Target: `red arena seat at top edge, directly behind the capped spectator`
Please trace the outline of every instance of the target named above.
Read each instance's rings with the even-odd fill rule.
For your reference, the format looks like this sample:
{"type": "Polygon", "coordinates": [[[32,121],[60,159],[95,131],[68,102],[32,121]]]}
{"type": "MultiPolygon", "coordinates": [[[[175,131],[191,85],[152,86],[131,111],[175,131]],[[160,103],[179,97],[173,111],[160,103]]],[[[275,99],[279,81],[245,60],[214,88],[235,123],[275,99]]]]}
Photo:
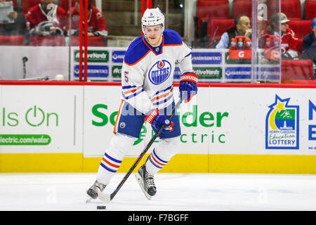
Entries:
{"type": "MultiPolygon", "coordinates": [[[[275,0],[268,0],[268,18],[275,13],[279,12],[278,6],[275,7],[275,0]]],[[[281,1],[281,12],[287,15],[290,20],[301,20],[301,1],[299,0],[282,0],[281,1]]]]}

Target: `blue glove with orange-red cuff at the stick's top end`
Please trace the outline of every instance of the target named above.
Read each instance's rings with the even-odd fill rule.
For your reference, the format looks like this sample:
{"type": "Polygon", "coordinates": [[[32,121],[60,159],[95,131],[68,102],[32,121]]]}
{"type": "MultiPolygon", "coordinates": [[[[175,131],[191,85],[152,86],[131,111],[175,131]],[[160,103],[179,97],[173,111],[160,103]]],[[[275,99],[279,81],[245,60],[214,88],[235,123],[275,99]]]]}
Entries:
{"type": "Polygon", "coordinates": [[[184,91],[187,91],[187,96],[184,96],[184,99],[185,103],[188,103],[197,94],[197,75],[193,72],[182,75],[180,77],[179,91],[181,102],[184,91]]]}

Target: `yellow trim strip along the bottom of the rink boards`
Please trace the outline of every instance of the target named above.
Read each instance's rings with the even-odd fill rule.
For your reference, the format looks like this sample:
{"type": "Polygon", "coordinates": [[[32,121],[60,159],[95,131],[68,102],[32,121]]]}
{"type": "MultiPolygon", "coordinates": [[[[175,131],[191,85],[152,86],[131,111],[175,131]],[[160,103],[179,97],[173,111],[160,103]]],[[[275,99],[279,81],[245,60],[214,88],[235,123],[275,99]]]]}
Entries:
{"type": "MultiPolygon", "coordinates": [[[[145,158],[138,167],[143,165],[145,158]]],[[[95,173],[101,159],[84,158],[82,153],[1,153],[0,172],[95,173]]],[[[124,158],[118,172],[127,172],[135,160],[124,158]]],[[[316,174],[316,155],[178,154],[159,172],[316,174]]]]}

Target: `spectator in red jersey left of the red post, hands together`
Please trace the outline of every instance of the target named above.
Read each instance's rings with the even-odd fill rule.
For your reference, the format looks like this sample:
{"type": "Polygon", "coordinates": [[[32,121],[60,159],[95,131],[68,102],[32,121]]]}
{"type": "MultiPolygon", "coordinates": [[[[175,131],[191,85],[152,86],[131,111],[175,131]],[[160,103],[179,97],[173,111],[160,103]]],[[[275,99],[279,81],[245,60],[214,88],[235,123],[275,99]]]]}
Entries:
{"type": "Polygon", "coordinates": [[[41,0],[27,13],[27,29],[32,35],[64,35],[67,25],[67,12],[54,4],[54,0],[41,0]]]}

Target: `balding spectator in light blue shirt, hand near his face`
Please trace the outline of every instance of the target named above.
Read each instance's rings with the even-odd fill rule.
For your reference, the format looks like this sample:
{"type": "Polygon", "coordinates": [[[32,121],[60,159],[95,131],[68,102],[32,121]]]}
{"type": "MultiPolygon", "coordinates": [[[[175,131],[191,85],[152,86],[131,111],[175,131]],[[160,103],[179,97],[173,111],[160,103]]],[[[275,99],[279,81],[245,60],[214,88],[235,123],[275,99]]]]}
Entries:
{"type": "Polygon", "coordinates": [[[246,15],[239,15],[235,19],[235,27],[228,29],[222,37],[220,37],[220,41],[216,45],[216,49],[228,49],[232,38],[236,36],[245,36],[251,39],[251,32],[249,17],[246,15]]]}

